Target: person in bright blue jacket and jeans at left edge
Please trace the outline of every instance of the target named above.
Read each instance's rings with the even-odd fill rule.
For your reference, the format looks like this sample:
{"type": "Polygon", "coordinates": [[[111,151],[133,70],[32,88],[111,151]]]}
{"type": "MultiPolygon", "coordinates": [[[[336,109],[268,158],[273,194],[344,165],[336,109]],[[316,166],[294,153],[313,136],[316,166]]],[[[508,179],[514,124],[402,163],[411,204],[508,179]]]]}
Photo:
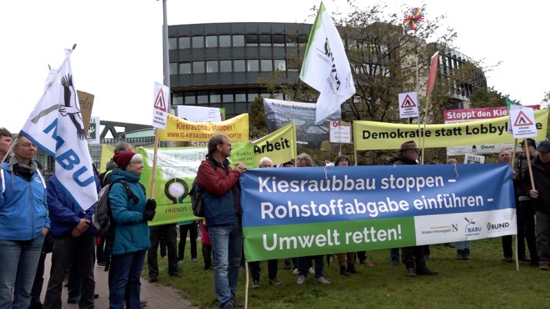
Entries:
{"type": "Polygon", "coordinates": [[[34,155],[36,145],[19,136],[0,170],[0,308],[30,305],[42,243],[50,230],[46,185],[34,155]]]}

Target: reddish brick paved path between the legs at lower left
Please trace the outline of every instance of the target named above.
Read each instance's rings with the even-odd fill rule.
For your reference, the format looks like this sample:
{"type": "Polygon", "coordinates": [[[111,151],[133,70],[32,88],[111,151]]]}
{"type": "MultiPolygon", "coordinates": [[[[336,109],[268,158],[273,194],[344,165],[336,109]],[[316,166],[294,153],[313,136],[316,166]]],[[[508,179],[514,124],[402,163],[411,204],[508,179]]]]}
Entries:
{"type": "MultiPolygon", "coordinates": [[[[41,299],[44,301],[46,294],[47,282],[50,279],[50,266],[52,265],[52,254],[46,255],[45,271],[44,271],[44,285],[42,287],[41,299]]],[[[96,267],[94,270],[96,278],[96,294],[99,294],[99,298],[96,299],[97,309],[109,308],[109,284],[107,283],[107,272],[104,268],[96,267]]],[[[157,282],[149,283],[147,279],[142,278],[142,292],[141,299],[148,301],[149,309],[168,309],[168,308],[197,308],[192,307],[191,302],[181,298],[179,292],[170,286],[163,286],[157,282]]],[[[67,288],[63,288],[63,309],[78,309],[78,304],[67,304],[67,288]]]]}

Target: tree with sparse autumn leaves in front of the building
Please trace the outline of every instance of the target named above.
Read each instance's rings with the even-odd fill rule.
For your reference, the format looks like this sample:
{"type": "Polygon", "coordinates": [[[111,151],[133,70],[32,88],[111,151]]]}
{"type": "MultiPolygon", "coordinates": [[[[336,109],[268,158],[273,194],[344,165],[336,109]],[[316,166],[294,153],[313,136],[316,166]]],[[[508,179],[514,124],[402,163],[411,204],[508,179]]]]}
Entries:
{"type": "MultiPolygon", "coordinates": [[[[445,16],[428,19],[419,30],[410,33],[402,26],[403,16],[400,12],[388,14],[384,12],[386,10],[386,5],[366,7],[363,3],[358,5],[349,0],[348,8],[345,9],[349,13],[333,12],[333,19],[347,49],[357,91],[353,98],[342,104],[344,121],[366,119],[376,122],[404,122],[399,119],[398,93],[415,90],[419,92],[421,121],[426,103],[423,85],[428,76],[430,56],[438,49],[440,54],[450,55],[449,50],[456,36],[452,28],[447,28],[443,35],[431,39],[433,43],[426,44],[428,38],[434,38],[440,32],[445,16]]],[[[312,12],[316,14],[316,8],[312,12]]],[[[298,44],[294,52],[287,54],[287,58],[294,58],[301,63],[303,47],[298,44]]],[[[472,84],[480,74],[483,76],[483,69],[478,65],[463,61],[453,67],[452,71],[449,70],[444,78],[439,76],[428,107],[430,122],[439,122],[443,117],[443,109],[456,103],[452,94],[463,91],[465,85],[472,84]]],[[[287,98],[294,98],[296,101],[316,102],[318,97],[317,91],[303,83],[298,86],[292,82],[281,82],[277,72],[273,78],[260,82],[269,91],[285,93],[287,98]]],[[[484,86],[483,82],[480,86],[484,86]]],[[[382,163],[393,154],[393,151],[364,152],[360,161],[367,164],[382,163]]]]}

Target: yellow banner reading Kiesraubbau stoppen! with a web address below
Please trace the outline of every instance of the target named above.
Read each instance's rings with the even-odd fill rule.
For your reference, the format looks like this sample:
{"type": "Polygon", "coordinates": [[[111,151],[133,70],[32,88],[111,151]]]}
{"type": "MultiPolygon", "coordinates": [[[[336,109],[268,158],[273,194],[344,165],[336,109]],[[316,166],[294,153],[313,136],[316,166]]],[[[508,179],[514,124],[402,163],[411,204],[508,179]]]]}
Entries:
{"type": "Polygon", "coordinates": [[[227,135],[231,141],[248,141],[248,114],[223,122],[188,122],[168,114],[166,129],[159,130],[162,141],[208,141],[216,133],[227,135]]]}

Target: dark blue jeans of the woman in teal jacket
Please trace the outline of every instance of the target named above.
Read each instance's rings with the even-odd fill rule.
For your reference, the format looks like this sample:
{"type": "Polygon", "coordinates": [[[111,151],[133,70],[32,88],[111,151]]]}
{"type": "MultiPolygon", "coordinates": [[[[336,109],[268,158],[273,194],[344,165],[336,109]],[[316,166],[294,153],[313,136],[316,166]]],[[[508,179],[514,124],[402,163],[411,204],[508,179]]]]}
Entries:
{"type": "Polygon", "coordinates": [[[113,255],[109,269],[109,308],[140,309],[140,275],[147,251],[113,255]]]}

